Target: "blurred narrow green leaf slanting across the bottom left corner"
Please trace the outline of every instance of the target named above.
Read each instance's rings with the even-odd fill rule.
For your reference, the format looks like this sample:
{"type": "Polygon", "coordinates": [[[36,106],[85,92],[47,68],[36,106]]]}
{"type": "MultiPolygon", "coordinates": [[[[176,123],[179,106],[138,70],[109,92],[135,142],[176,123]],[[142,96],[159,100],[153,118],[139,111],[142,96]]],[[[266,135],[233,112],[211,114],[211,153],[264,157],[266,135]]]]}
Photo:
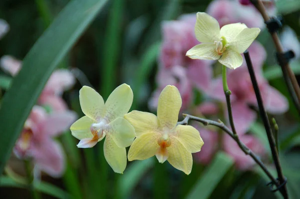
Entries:
{"type": "MultiPolygon", "coordinates": [[[[27,188],[26,185],[18,184],[6,176],[0,177],[0,187],[15,187],[15,188],[23,188],[23,189],[27,188]]],[[[61,190],[49,183],[36,182],[36,183],[34,183],[34,188],[43,194],[47,194],[47,195],[55,197],[57,199],[70,198],[68,193],[64,192],[63,190],[61,190]]]]}

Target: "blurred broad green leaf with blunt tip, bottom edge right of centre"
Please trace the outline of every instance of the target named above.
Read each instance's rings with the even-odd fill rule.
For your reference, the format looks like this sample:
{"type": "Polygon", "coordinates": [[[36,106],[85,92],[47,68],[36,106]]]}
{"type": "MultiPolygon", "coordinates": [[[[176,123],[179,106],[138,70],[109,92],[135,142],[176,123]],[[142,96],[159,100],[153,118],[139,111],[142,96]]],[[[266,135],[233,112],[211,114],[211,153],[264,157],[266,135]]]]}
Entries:
{"type": "Polygon", "coordinates": [[[226,154],[222,152],[216,154],[186,199],[208,199],[232,165],[232,159],[226,154]]]}

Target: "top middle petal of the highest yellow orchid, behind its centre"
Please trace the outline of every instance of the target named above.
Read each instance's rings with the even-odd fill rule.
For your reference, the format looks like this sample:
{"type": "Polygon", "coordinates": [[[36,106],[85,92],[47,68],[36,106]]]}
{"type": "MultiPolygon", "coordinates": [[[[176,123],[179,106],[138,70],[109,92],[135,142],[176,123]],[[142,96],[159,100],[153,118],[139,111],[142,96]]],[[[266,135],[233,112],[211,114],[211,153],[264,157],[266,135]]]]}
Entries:
{"type": "Polygon", "coordinates": [[[225,37],[227,42],[231,42],[246,27],[244,23],[227,24],[221,27],[220,35],[225,37]]]}

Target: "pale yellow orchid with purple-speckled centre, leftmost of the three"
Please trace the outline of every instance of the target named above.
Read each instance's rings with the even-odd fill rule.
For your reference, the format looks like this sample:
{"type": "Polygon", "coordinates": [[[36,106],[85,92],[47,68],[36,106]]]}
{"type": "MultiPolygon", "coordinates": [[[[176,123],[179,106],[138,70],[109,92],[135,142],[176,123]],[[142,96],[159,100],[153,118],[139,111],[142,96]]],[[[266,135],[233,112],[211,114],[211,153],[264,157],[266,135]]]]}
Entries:
{"type": "Polygon", "coordinates": [[[134,128],[123,118],[132,104],[133,93],[127,84],[118,86],[105,104],[94,89],[83,86],[79,91],[81,110],[85,116],[70,127],[72,135],[79,139],[78,148],[95,146],[105,136],[104,157],[115,173],[126,168],[126,149],[135,138],[134,128]]]}

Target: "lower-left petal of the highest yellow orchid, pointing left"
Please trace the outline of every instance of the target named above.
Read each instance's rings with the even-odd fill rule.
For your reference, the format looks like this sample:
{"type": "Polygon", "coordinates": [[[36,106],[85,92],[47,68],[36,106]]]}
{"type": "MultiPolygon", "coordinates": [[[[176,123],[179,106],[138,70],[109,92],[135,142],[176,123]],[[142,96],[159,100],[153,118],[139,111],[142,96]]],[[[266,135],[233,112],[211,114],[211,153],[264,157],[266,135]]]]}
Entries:
{"type": "Polygon", "coordinates": [[[215,44],[201,43],[193,46],[186,52],[186,56],[191,59],[216,60],[220,58],[215,50],[215,44]]]}

